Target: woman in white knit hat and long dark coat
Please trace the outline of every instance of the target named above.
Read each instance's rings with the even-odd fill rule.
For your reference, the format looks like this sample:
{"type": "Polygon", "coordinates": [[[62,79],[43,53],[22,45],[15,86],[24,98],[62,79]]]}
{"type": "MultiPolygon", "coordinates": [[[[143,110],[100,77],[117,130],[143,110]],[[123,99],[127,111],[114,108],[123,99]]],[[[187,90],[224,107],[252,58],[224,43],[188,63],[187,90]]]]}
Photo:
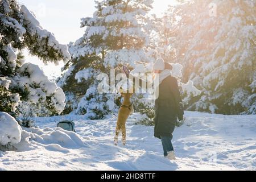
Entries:
{"type": "Polygon", "coordinates": [[[177,118],[183,120],[183,105],[175,77],[171,76],[172,66],[158,59],[154,63],[154,73],[159,74],[159,96],[155,100],[155,134],[162,140],[164,157],[175,159],[172,133],[177,118]]]}

